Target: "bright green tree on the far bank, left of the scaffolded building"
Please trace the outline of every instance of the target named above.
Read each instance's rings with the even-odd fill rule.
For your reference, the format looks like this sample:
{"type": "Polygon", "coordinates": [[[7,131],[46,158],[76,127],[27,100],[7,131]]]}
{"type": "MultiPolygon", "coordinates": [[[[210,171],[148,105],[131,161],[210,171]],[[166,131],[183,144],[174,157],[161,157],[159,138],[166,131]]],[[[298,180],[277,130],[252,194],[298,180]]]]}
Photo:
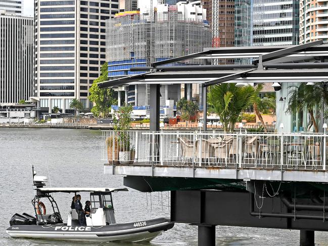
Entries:
{"type": "Polygon", "coordinates": [[[100,77],[93,81],[92,86],[89,89],[90,95],[88,96],[88,99],[96,104],[92,107],[91,112],[96,117],[99,115],[108,117],[111,111],[111,106],[116,104],[116,100],[113,98],[113,90],[109,88],[101,89],[97,85],[98,83],[107,80],[107,74],[107,62],[105,62],[101,68],[100,77]]]}

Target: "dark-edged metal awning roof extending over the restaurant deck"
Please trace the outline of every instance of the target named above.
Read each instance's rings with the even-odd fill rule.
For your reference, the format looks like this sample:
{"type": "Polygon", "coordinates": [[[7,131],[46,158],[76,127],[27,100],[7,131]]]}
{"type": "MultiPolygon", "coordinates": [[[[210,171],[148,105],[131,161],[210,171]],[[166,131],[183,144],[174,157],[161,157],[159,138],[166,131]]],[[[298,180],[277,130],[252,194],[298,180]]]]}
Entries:
{"type": "MultiPolygon", "coordinates": [[[[209,86],[218,83],[273,83],[273,82],[322,82],[328,79],[328,45],[322,40],[302,45],[259,46],[259,47],[225,47],[207,48],[204,52],[183,57],[172,58],[152,64],[146,68],[149,72],[126,76],[99,84],[99,87],[116,87],[128,84],[181,84],[202,83],[209,86]],[[214,55],[236,54],[259,57],[253,65],[220,65],[216,66],[161,66],[188,59],[214,58],[214,55]],[[298,56],[288,58],[289,56],[298,56]],[[318,61],[318,57],[320,58],[318,61]],[[305,59],[306,58],[306,59],[305,59]],[[312,60],[311,60],[312,59],[312,60]],[[299,61],[312,61],[301,62],[299,61]],[[161,66],[161,67],[159,67],[161,66]]],[[[133,70],[133,69],[131,69],[133,70]]],[[[145,71],[139,68],[139,71],[145,71]]]]}

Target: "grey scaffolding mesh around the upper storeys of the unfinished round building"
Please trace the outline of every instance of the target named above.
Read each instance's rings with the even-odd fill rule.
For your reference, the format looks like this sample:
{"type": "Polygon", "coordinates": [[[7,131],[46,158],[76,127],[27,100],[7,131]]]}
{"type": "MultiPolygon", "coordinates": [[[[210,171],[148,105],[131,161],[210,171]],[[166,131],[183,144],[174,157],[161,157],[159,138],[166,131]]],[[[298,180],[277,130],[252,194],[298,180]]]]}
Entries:
{"type": "Polygon", "coordinates": [[[107,61],[146,59],[150,64],[209,47],[209,27],[201,21],[185,20],[174,7],[170,6],[168,12],[155,12],[154,18],[131,11],[107,20],[107,61]]]}

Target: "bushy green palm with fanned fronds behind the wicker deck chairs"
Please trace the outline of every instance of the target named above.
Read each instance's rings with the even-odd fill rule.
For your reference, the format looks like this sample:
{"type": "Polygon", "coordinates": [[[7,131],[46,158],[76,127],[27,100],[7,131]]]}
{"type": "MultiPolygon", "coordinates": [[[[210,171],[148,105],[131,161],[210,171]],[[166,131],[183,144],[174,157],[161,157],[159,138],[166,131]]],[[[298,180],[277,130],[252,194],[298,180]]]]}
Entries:
{"type": "Polygon", "coordinates": [[[213,85],[207,95],[208,104],[220,117],[224,131],[233,131],[241,112],[254,102],[251,85],[237,87],[235,83],[213,85]]]}

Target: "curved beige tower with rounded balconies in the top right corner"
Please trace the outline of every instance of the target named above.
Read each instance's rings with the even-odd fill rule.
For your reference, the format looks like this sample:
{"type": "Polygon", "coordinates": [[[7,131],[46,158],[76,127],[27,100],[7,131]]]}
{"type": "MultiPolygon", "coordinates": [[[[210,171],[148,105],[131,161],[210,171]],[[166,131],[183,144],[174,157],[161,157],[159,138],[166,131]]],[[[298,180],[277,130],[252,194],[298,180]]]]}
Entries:
{"type": "Polygon", "coordinates": [[[322,39],[328,42],[328,1],[300,1],[300,44],[322,39]]]}

